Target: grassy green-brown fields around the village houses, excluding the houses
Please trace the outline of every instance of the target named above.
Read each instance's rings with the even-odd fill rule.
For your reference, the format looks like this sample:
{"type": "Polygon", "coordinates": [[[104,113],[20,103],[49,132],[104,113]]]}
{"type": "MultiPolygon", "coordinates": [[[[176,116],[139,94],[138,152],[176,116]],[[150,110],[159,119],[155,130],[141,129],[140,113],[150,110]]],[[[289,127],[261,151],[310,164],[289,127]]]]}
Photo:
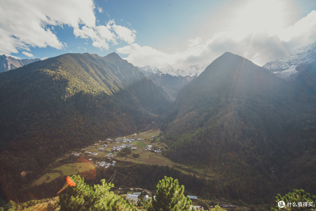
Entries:
{"type": "MultiPolygon", "coordinates": [[[[132,153],[134,154],[139,154],[138,158],[134,158],[132,156],[132,154],[129,154],[126,157],[116,157],[116,160],[119,161],[126,161],[126,162],[132,162],[132,163],[136,163],[136,164],[148,164],[148,165],[160,165],[160,166],[169,166],[169,167],[173,167],[175,169],[178,169],[179,171],[185,173],[185,174],[195,174],[197,177],[205,177],[205,178],[210,178],[212,179],[212,177],[215,176],[215,173],[212,171],[209,171],[207,169],[199,169],[193,166],[186,166],[186,165],[179,165],[177,163],[172,162],[171,160],[169,160],[168,158],[164,157],[161,155],[161,153],[156,154],[154,152],[150,152],[150,151],[143,151],[143,149],[145,149],[146,145],[152,145],[157,147],[157,149],[161,149],[161,147],[165,148],[167,146],[166,143],[161,142],[159,144],[160,141],[157,142],[153,142],[151,143],[151,137],[152,136],[158,136],[160,134],[160,130],[149,130],[146,132],[142,132],[137,134],[137,136],[133,137],[132,135],[126,135],[123,137],[119,137],[119,138],[135,138],[135,139],[146,139],[146,140],[137,140],[134,141],[133,144],[136,145],[137,150],[133,150],[132,153]]],[[[96,162],[96,161],[107,161],[107,158],[105,158],[105,155],[108,152],[111,152],[111,149],[113,146],[120,146],[123,143],[119,142],[110,142],[110,141],[101,141],[101,142],[96,142],[94,145],[90,145],[87,146],[86,148],[84,148],[80,153],[81,155],[85,152],[97,152],[98,155],[96,156],[92,156],[92,155],[88,155],[86,153],[83,154],[84,158],[78,158],[78,160],[83,159],[85,161],[87,161],[89,158],[92,158],[91,162],[96,162]],[[103,144],[106,144],[107,142],[107,147],[103,152],[98,150],[98,148],[103,147],[103,144]]],[[[128,144],[128,143],[125,143],[128,144]]],[[[78,152],[76,152],[78,153],[78,152]]],[[[76,174],[78,171],[82,172],[82,171],[86,171],[86,170],[90,170],[95,168],[94,165],[91,162],[76,162],[76,163],[69,163],[69,164],[63,164],[58,166],[57,168],[51,169],[51,172],[46,173],[45,175],[43,175],[42,177],[40,177],[38,180],[36,180],[33,185],[38,185],[41,184],[43,182],[49,183],[50,181],[54,180],[57,177],[60,176],[64,176],[64,175],[72,175],[72,174],[76,174]]],[[[120,164],[121,165],[121,164],[120,164]]],[[[124,164],[123,164],[124,165],[124,164]]]]}

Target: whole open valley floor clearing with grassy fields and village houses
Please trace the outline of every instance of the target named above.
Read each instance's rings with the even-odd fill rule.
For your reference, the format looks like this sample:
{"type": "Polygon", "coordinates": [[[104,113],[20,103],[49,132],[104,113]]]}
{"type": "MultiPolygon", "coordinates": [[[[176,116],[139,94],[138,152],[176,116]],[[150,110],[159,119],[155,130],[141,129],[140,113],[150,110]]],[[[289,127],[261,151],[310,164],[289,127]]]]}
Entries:
{"type": "Polygon", "coordinates": [[[163,156],[163,151],[169,146],[165,142],[160,141],[159,135],[159,129],[150,129],[138,134],[116,137],[112,139],[114,141],[110,141],[109,139],[96,141],[93,145],[65,154],[63,158],[57,160],[57,163],[52,164],[54,168],[48,168],[46,170],[47,173],[34,181],[32,185],[39,185],[44,182],[49,183],[60,176],[77,174],[78,172],[89,171],[95,168],[107,168],[106,165],[100,166],[100,163],[102,164],[102,162],[103,164],[107,163],[108,165],[111,164],[117,166],[129,166],[131,163],[168,166],[170,168],[178,169],[185,174],[196,175],[196,177],[212,179],[215,176],[215,173],[208,169],[177,164],[163,156]],[[123,142],[123,140],[134,140],[130,142],[132,145],[131,147],[136,147],[137,149],[132,150],[132,153],[127,154],[126,156],[120,157],[118,156],[118,151],[113,150],[113,147],[127,145],[129,143],[128,141],[123,142]],[[147,149],[146,146],[149,145],[152,146],[151,149],[145,150],[147,149]],[[104,149],[100,150],[100,148],[104,149]],[[155,152],[155,150],[161,152],[155,152]],[[95,153],[95,155],[92,155],[93,153],[95,153]],[[135,154],[138,154],[139,156],[135,156],[135,154]],[[58,162],[60,163],[61,160],[65,160],[70,156],[75,158],[73,159],[75,162],[58,165],[58,162]]]}

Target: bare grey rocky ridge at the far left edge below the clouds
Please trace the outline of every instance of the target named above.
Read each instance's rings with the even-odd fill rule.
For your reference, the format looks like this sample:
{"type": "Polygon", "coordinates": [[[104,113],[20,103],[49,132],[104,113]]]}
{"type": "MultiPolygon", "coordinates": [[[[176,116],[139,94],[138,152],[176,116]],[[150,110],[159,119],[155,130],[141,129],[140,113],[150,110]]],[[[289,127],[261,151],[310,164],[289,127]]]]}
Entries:
{"type": "Polygon", "coordinates": [[[10,56],[2,55],[0,56],[0,72],[12,70],[32,62],[39,61],[40,59],[15,59],[10,56]]]}

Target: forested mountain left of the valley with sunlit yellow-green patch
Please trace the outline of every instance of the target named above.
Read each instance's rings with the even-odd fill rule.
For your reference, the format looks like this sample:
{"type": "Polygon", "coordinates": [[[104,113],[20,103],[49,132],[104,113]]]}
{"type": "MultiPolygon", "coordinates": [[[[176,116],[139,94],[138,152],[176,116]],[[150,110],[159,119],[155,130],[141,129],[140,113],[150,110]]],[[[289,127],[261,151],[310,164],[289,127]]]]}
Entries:
{"type": "Polygon", "coordinates": [[[0,74],[0,179],[10,199],[69,149],[135,133],[169,109],[142,72],[115,63],[64,54],[0,74]]]}

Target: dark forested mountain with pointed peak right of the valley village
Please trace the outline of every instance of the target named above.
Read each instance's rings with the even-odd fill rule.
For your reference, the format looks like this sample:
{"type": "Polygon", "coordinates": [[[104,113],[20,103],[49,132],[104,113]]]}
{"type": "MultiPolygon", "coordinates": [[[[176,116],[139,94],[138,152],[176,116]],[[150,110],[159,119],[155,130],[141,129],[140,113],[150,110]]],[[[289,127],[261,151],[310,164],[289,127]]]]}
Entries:
{"type": "Polygon", "coordinates": [[[179,91],[165,128],[174,141],[167,156],[216,171],[218,189],[236,199],[315,190],[315,167],[304,163],[307,156],[316,164],[315,106],[301,86],[224,53],[179,91]]]}

